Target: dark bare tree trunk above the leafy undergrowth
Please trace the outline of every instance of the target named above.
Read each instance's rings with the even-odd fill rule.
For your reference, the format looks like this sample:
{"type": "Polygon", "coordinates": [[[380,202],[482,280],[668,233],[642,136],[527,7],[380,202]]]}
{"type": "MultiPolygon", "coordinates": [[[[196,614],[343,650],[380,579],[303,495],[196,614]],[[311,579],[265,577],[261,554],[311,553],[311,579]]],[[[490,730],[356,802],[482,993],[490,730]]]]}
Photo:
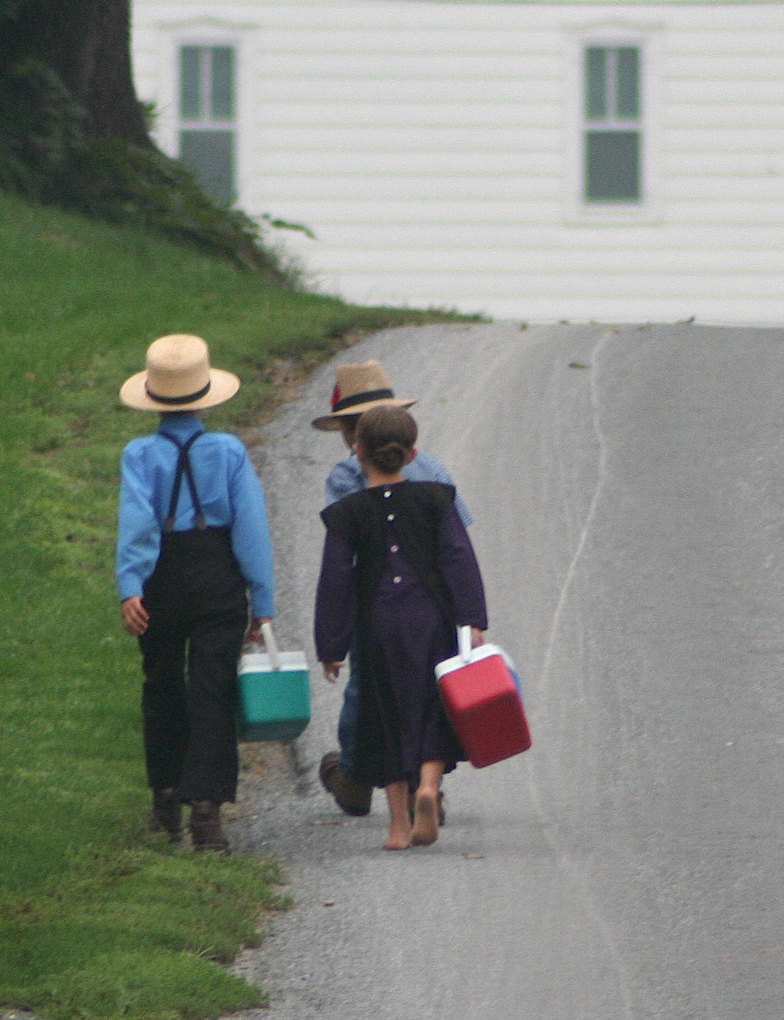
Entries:
{"type": "Polygon", "coordinates": [[[0,69],[25,58],[58,73],[91,134],[151,146],[130,70],[129,0],[22,0],[2,23],[0,69]]]}

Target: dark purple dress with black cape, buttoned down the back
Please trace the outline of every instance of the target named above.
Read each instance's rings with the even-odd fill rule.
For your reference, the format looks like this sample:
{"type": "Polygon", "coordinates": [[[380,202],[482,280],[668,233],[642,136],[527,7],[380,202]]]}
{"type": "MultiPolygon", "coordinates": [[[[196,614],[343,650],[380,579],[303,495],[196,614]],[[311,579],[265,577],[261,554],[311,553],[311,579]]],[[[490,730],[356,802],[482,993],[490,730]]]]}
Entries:
{"type": "Polygon", "coordinates": [[[360,526],[348,529],[330,526],[331,508],[325,511],[316,649],[322,662],[343,660],[356,628],[360,707],[352,773],[373,785],[406,780],[415,788],[423,762],[442,761],[451,771],[465,759],[433,670],[456,652],[456,624],[485,629],[487,621],[479,568],[453,493],[405,481],[349,496],[334,504],[354,501],[360,526]],[[421,519],[432,526],[412,532],[421,519]],[[368,580],[363,567],[374,552],[368,580]]]}

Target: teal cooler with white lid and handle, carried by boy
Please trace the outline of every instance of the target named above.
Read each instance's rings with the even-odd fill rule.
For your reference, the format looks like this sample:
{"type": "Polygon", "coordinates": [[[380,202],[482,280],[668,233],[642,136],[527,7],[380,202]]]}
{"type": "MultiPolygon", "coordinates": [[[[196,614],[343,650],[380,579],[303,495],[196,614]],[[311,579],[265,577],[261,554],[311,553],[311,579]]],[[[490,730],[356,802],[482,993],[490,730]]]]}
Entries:
{"type": "Polygon", "coordinates": [[[310,722],[310,676],[304,652],[279,652],[265,633],[268,652],[240,659],[239,737],[293,741],[310,722]]]}

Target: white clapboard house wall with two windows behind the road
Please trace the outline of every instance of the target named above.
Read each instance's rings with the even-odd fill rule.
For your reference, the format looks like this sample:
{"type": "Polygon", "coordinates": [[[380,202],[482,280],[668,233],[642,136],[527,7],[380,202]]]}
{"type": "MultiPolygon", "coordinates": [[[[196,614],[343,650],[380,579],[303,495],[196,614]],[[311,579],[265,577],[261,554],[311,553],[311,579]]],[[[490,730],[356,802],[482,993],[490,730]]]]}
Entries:
{"type": "Polygon", "coordinates": [[[135,0],[157,139],[329,293],[784,321],[784,0],[135,0]]]}

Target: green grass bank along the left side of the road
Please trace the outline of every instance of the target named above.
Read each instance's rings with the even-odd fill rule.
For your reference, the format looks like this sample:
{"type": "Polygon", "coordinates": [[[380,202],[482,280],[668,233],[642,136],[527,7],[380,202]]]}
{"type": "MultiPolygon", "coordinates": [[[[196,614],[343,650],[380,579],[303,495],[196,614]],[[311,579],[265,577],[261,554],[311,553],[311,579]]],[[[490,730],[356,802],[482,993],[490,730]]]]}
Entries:
{"type": "Polygon", "coordinates": [[[145,831],[139,654],[112,560],[119,455],[156,419],[123,408],[120,384],[156,337],[196,333],[243,379],[208,425],[242,428],[274,402],[281,359],[452,317],[274,290],[0,195],[0,1005],[58,1020],[254,1005],[218,964],[281,905],[272,863],[145,831]]]}

